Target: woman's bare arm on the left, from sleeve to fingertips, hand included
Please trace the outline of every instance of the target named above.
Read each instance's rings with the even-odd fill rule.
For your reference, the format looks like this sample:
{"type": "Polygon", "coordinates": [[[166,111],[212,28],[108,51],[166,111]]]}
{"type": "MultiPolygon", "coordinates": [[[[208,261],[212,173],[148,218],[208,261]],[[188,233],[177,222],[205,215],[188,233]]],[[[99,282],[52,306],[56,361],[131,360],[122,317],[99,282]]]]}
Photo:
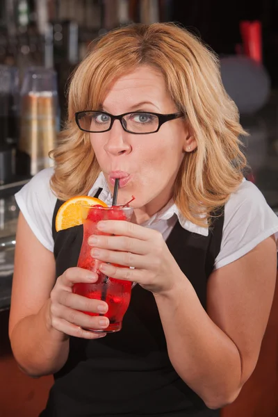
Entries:
{"type": "MultiPolygon", "coordinates": [[[[76,311],[97,312],[106,303],[72,294],[74,282],[92,282],[97,275],[70,268],[55,284],[54,254],[35,237],[19,214],[9,336],[19,367],[33,377],[55,373],[67,361],[69,334],[98,338],[83,327],[99,327],[96,318],[76,311]],[[76,309],[76,310],[75,310],[76,309]]],[[[108,325],[108,322],[107,322],[108,325]]]]}

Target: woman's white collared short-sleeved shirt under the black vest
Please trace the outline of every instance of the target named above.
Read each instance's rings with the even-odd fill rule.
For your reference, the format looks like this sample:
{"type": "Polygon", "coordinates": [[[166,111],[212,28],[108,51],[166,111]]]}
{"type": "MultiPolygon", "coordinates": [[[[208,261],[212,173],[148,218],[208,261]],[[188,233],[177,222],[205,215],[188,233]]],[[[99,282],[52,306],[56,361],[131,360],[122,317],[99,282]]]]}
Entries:
{"type": "MultiPolygon", "coordinates": [[[[53,168],[40,171],[15,195],[29,227],[51,252],[54,250],[52,217],[57,199],[49,185],[52,174],[53,168]]],[[[88,195],[95,195],[99,188],[103,188],[99,198],[108,205],[112,204],[112,195],[102,173],[88,195]]],[[[142,226],[159,231],[166,240],[177,220],[183,229],[208,236],[208,228],[183,218],[172,200],[142,226]]],[[[278,240],[277,215],[268,206],[261,191],[250,181],[244,180],[225,204],[222,243],[215,259],[215,269],[236,261],[272,234],[278,240]]]]}

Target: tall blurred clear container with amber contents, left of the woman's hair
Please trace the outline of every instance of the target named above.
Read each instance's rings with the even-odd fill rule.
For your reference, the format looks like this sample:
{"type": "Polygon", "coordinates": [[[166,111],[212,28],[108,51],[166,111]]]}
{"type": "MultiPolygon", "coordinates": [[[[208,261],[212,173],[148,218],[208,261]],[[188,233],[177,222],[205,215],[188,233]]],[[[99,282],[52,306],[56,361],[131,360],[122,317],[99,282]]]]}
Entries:
{"type": "Polygon", "coordinates": [[[21,91],[19,174],[35,175],[53,165],[49,151],[58,130],[57,76],[44,67],[26,69],[21,91]]]}

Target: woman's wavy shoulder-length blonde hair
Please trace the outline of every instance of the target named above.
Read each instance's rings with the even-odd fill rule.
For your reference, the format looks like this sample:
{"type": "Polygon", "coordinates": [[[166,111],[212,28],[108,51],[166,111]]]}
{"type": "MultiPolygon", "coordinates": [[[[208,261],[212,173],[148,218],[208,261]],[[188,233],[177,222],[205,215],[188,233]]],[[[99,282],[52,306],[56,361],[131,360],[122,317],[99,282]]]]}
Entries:
{"type": "Polygon", "coordinates": [[[87,194],[100,172],[89,133],[74,113],[98,109],[109,86],[138,65],[153,65],[165,76],[170,95],[186,115],[197,149],[186,153],[174,183],[174,201],[191,222],[204,226],[243,179],[238,108],[222,85],[218,59],[183,28],[172,23],[132,24],[92,42],[69,89],[68,117],[51,152],[56,169],[51,188],[60,199],[87,194]]]}

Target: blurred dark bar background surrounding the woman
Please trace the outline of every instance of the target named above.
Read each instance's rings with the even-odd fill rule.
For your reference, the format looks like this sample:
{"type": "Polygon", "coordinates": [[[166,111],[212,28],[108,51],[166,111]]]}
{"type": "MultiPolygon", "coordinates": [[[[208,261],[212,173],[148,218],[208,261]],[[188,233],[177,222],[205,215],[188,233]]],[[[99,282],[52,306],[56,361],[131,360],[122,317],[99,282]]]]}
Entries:
{"type": "MultiPolygon", "coordinates": [[[[38,416],[51,386],[51,377],[33,380],[20,373],[8,342],[18,216],[14,194],[36,172],[51,166],[48,152],[55,146],[67,114],[67,79],[85,56],[88,44],[106,31],[132,22],[178,22],[218,54],[224,87],[250,133],[244,140],[250,165],[246,177],[256,183],[278,214],[277,0],[0,0],[3,417],[38,416]]],[[[261,355],[268,360],[261,359],[256,379],[248,382],[240,400],[222,411],[223,416],[278,416],[277,321],[270,320],[265,338],[268,341],[263,342],[261,355]]]]}

